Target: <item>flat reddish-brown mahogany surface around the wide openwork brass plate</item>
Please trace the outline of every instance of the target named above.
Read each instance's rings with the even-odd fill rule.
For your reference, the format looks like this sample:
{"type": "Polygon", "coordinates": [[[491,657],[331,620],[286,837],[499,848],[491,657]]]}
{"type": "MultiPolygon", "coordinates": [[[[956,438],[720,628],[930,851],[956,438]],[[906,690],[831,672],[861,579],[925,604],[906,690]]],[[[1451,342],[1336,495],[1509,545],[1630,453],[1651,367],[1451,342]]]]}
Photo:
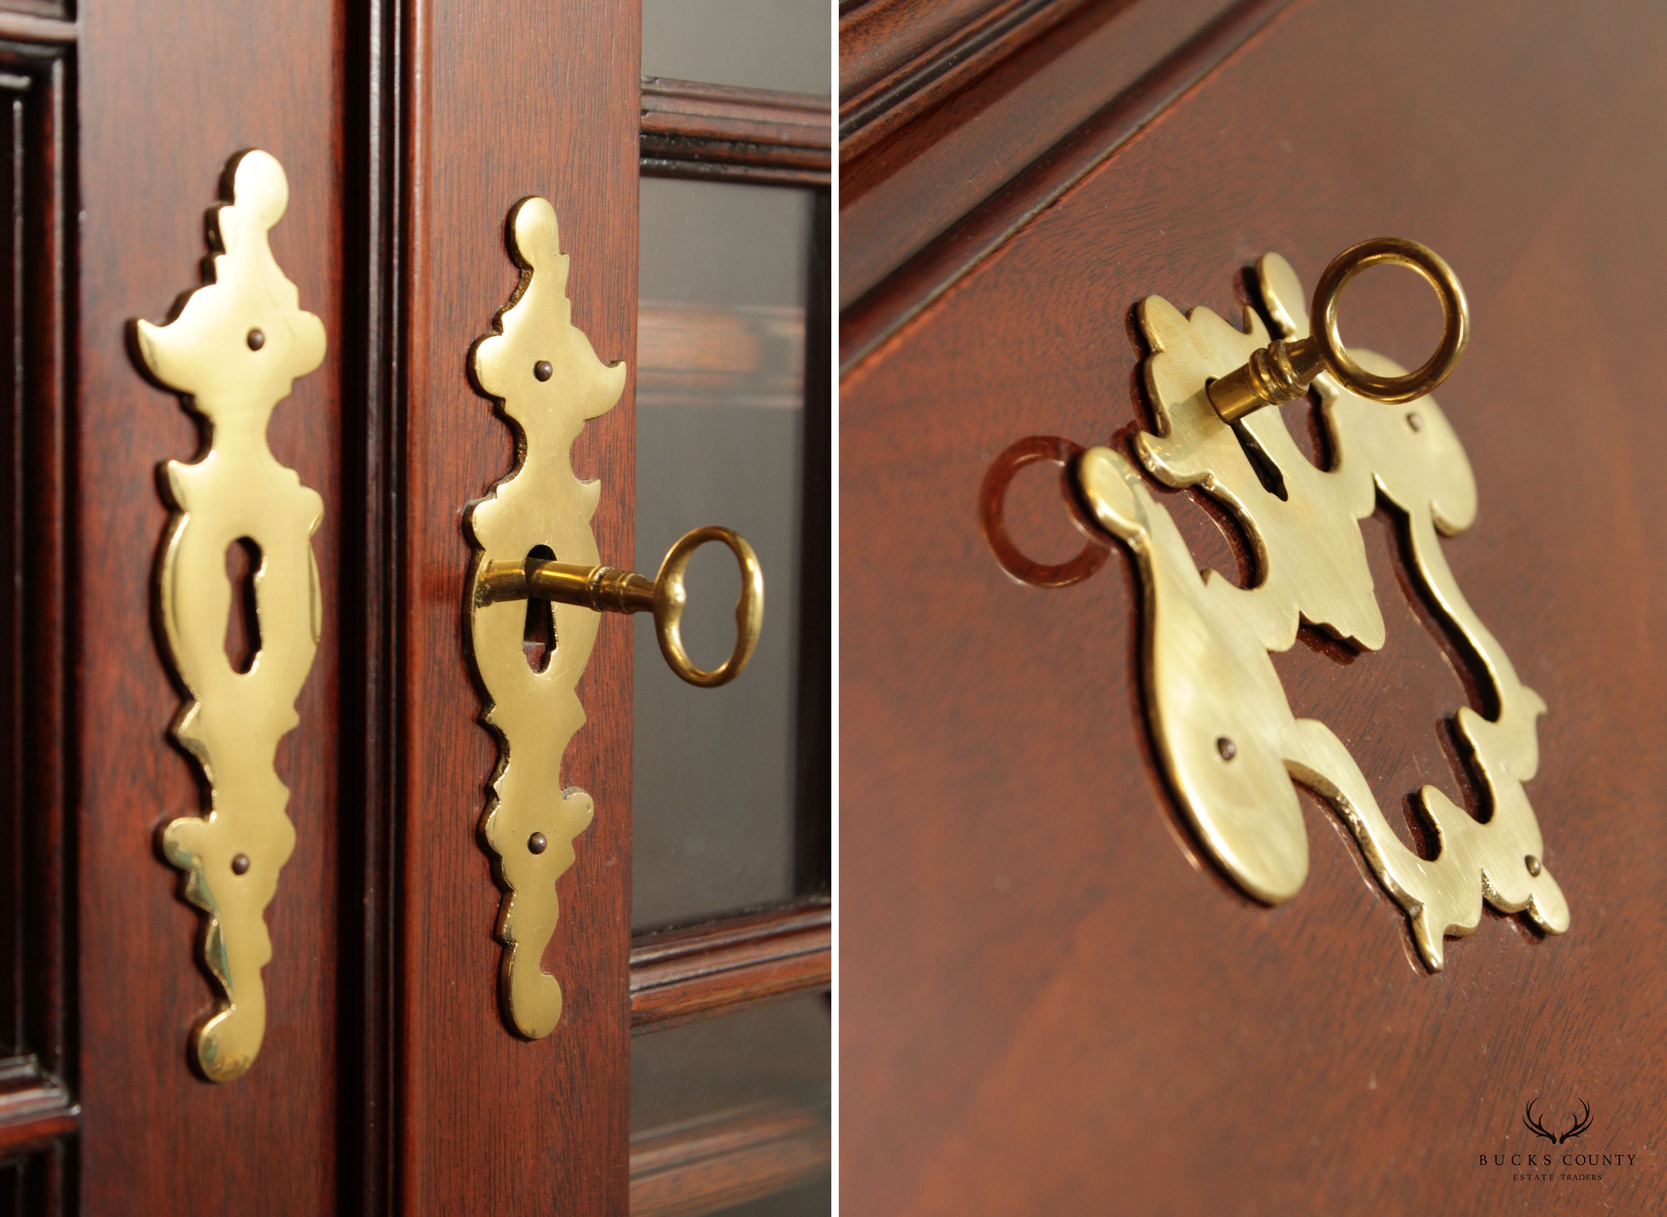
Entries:
{"type": "MultiPolygon", "coordinates": [[[[1299,0],[845,375],[849,1209],[1667,1209],[1664,110],[1659,7],[1299,0]],[[1144,295],[1235,315],[1262,252],[1312,285],[1379,233],[1440,250],[1470,298],[1439,398],[1480,515],[1444,548],[1550,707],[1527,794],[1574,910],[1562,937],[1489,912],[1437,975],[1307,795],[1304,890],[1237,895],[1154,764],[1127,553],[1039,590],[977,520],[1012,442],[1125,447],[1152,425],[1144,295]],[[1584,1099],[1584,1149],[1635,1164],[1535,1184],[1509,1157],[1479,1167],[1544,1145],[1520,1124],[1535,1097],[1584,1099]]],[[[1347,322],[1402,360],[1427,323],[1370,293],[1347,322]]],[[[1217,517],[1159,497],[1200,565],[1237,577],[1217,517]]],[[[1057,527],[1035,557],[1080,547],[1057,527]]],[[[1279,667],[1394,820],[1424,780],[1467,797],[1444,719],[1470,694],[1405,598],[1387,518],[1364,535],[1390,644],[1300,642],[1279,667]]]]}

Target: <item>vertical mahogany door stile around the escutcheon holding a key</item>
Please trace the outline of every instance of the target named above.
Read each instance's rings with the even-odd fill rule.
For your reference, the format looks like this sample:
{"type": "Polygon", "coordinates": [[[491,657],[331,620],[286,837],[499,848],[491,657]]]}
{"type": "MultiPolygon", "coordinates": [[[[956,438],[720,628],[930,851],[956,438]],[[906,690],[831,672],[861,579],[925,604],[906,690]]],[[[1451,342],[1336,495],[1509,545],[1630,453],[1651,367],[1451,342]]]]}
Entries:
{"type": "MultiPolygon", "coordinates": [[[[465,367],[517,283],[503,233],[518,198],[555,205],[572,320],[603,362],[635,367],[640,10],[418,0],[407,17],[395,1190],[407,1214],[623,1214],[632,624],[602,622],[578,684],[587,724],[562,780],[595,820],[543,960],[562,1020],[527,1042],[498,1009],[500,892],[477,832],[497,745],[463,655],[462,513],[515,460],[465,367]]],[[[635,430],[627,378],[573,445],[578,475],[602,482],[592,523],[617,567],[633,553],[635,430]]]]}

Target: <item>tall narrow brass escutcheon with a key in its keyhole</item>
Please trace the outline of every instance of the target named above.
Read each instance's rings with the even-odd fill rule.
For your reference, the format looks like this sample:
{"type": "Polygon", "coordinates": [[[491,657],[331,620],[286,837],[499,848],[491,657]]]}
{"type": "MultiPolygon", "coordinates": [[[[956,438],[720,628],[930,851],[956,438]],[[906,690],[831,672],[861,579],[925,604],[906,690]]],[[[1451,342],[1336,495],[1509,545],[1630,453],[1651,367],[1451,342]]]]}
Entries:
{"type": "Polygon", "coordinates": [[[538,547],[560,563],[600,563],[590,517],[602,485],[578,480],[572,447],[587,418],[618,402],[625,365],[603,365],[572,323],[567,255],[547,200],[515,203],[508,245],[520,283],[493,317],[493,333],[475,342],[468,363],[475,387],[498,402],[515,432],[520,460],[465,517],[475,545],[468,635],[485,690],[483,720],[498,740],[493,794],[480,822],[503,889],[498,992],[510,1025],[535,1040],[562,1017],[562,987],[540,962],[555,935],[555,882],[573,865],[573,839],[595,814],[588,794],[563,789],[562,755],[585,724],[577,685],[600,617],[588,607],[552,603],[555,650],[533,670],[522,649],[525,602],[485,595],[483,580],[503,563],[525,563],[538,547]]]}

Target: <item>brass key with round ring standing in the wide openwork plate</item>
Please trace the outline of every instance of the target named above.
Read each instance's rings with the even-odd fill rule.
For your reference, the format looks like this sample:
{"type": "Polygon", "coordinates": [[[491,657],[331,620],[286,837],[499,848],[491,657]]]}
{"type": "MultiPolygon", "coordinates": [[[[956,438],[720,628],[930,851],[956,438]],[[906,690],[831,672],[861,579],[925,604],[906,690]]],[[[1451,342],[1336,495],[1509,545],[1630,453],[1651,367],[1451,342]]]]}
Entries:
{"type": "MultiPolygon", "coordinates": [[[[1207,392],[1222,422],[1239,422],[1264,405],[1284,405],[1309,392],[1314,377],[1330,372],[1344,388],[1372,402],[1412,402],[1435,388],[1454,370],[1470,340],[1470,310],[1452,267],[1427,245],[1404,237],[1377,237],[1350,245],[1325,267],[1314,288],[1314,315],[1320,327],[1302,338],[1275,338],[1225,377],[1210,380],[1207,392]],[[1382,375],[1350,358],[1337,330],[1337,302],[1344,287],[1377,265],[1409,267],[1435,288],[1442,302],[1442,340],[1424,367],[1410,375],[1382,375]]],[[[1407,422],[1417,430],[1417,415],[1407,422]]]]}

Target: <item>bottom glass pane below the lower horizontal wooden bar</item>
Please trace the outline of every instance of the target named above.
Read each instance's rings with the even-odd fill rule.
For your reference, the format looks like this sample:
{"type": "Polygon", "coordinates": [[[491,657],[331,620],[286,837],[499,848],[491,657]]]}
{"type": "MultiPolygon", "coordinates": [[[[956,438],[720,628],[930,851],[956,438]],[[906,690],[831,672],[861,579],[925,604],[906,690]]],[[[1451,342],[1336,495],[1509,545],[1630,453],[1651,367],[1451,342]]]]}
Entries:
{"type": "MultiPolygon", "coordinates": [[[[630,1122],[637,1185],[645,1167],[675,1172],[675,1160],[698,1162],[700,1149],[678,1145],[712,1147],[727,1155],[732,1179],[768,1190],[722,1212],[827,1214],[830,1037],[823,995],[635,1037],[630,1122]]],[[[662,1175],[658,1187],[680,1182],[662,1175]]]]}

